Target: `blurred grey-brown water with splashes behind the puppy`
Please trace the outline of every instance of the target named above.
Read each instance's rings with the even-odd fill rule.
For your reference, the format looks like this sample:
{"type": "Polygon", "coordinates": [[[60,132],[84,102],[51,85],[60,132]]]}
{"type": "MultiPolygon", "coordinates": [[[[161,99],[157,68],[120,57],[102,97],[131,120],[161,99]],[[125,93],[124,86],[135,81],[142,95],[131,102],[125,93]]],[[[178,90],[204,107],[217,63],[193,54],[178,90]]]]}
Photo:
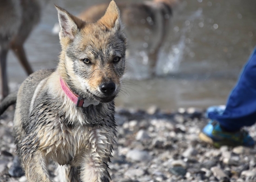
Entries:
{"type": "MultiPolygon", "coordinates": [[[[25,44],[33,69],[55,68],[58,63],[59,37],[52,34],[58,21],[54,3],[77,15],[102,2],[109,0],[51,0],[25,44]]],[[[170,36],[159,56],[159,76],[138,80],[139,76],[130,79],[127,73],[124,92],[116,105],[156,105],[172,110],[225,104],[255,45],[256,0],[180,0],[174,8],[170,36]]],[[[14,90],[27,76],[11,52],[7,64],[14,90]]]]}

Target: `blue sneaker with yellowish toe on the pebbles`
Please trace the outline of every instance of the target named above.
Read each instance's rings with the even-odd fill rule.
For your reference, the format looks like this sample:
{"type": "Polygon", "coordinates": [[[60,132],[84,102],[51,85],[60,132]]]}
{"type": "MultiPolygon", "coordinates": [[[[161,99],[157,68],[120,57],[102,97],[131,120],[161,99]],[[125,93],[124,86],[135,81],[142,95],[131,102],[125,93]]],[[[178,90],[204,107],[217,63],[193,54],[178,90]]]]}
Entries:
{"type": "Polygon", "coordinates": [[[254,140],[245,130],[237,132],[223,131],[218,121],[210,121],[199,134],[203,142],[212,144],[214,147],[227,146],[245,146],[253,147],[254,140]]]}

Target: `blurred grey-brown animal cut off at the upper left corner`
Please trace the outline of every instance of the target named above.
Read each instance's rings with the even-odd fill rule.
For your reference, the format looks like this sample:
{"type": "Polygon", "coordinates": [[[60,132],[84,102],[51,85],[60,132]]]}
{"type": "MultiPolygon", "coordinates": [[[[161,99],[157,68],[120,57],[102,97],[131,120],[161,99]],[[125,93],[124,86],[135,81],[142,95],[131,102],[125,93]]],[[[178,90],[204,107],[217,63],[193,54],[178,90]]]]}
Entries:
{"type": "Polygon", "coordinates": [[[27,72],[32,68],[27,61],[23,44],[40,20],[42,8],[49,0],[0,0],[0,66],[2,97],[9,93],[6,58],[9,49],[27,72]]]}

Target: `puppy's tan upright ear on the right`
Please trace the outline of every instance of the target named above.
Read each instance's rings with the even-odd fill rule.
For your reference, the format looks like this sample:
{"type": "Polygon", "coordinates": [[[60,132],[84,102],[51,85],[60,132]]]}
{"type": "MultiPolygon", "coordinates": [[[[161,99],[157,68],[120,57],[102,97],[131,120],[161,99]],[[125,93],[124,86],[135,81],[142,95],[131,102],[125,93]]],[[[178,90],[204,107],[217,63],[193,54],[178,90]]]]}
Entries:
{"type": "Polygon", "coordinates": [[[100,20],[98,20],[98,23],[105,25],[108,29],[120,29],[120,27],[122,26],[120,20],[120,12],[114,0],[110,2],[105,15],[102,16],[100,20]]]}

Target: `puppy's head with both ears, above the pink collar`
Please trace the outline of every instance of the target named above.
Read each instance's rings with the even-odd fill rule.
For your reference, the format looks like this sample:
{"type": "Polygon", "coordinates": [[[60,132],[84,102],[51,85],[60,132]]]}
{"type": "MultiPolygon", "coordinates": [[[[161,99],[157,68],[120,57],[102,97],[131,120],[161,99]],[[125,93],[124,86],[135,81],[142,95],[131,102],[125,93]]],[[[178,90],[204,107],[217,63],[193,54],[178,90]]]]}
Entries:
{"type": "Polygon", "coordinates": [[[80,96],[112,101],[120,89],[127,44],[116,3],[112,0],[105,15],[93,23],[59,6],[56,9],[61,27],[59,66],[64,68],[68,85],[80,96]]]}

